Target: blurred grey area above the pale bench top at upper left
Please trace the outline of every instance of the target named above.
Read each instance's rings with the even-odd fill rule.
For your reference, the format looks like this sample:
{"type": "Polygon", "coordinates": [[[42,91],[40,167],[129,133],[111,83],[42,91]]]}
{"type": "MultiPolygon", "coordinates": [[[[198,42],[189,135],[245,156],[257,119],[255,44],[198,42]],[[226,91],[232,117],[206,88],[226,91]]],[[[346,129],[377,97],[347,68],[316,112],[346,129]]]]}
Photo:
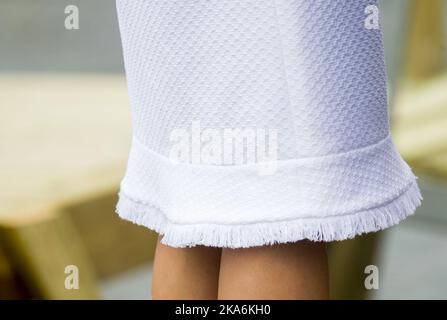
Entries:
{"type": "Polygon", "coordinates": [[[122,71],[114,0],[0,0],[0,71],[122,71]],[[80,29],[64,27],[77,5],[80,29]]]}

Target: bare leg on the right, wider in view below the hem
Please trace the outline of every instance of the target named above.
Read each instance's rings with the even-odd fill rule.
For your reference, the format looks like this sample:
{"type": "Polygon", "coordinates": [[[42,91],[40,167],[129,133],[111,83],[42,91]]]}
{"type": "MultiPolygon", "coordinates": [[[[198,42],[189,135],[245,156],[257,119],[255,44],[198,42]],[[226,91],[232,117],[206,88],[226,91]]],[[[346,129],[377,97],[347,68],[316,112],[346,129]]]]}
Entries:
{"type": "Polygon", "coordinates": [[[219,299],[328,299],[325,245],[223,249],[219,299]]]}

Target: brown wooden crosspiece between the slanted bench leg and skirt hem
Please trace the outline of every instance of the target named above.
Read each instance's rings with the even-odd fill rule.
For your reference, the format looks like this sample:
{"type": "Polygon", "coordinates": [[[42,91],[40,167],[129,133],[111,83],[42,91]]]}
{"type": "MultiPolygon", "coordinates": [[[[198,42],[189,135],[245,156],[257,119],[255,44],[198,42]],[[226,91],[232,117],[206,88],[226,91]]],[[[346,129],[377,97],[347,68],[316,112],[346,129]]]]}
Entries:
{"type": "Polygon", "coordinates": [[[156,233],[115,214],[117,190],[69,204],[67,211],[99,277],[112,276],[153,260],[156,233]]]}

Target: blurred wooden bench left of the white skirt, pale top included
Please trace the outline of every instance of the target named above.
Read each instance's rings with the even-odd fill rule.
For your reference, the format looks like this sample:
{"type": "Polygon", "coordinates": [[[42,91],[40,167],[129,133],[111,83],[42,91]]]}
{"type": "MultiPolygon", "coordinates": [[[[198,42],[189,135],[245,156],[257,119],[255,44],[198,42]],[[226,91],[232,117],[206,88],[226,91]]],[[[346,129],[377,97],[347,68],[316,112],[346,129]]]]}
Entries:
{"type": "Polygon", "coordinates": [[[3,270],[15,297],[98,298],[97,279],[149,261],[155,239],[114,214],[131,135],[124,77],[2,74],[0,88],[0,284],[3,270]],[[78,290],[64,286],[67,265],[78,290]]]}

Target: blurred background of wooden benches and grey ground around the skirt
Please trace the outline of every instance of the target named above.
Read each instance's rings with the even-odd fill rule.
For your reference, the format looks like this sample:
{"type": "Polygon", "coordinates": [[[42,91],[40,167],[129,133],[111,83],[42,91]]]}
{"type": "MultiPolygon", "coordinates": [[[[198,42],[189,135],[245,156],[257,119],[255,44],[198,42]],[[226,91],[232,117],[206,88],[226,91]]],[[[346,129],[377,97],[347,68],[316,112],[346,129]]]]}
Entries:
{"type": "MultiPolygon", "coordinates": [[[[381,6],[393,138],[424,202],[331,244],[331,295],[447,299],[447,0],[381,6]]],[[[0,0],[0,299],[150,298],[155,235],[114,213],[128,104],[115,1],[0,0]]]]}

